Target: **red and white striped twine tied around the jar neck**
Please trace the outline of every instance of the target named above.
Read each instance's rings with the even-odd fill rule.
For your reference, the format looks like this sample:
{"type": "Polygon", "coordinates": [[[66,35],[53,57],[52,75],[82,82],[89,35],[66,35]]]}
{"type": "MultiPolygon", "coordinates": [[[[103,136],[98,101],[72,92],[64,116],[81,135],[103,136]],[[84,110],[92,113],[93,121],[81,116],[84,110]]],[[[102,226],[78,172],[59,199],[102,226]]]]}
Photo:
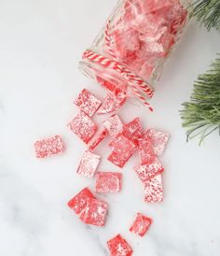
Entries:
{"type": "Polygon", "coordinates": [[[104,40],[109,55],[113,58],[113,60],[101,55],[100,53],[93,52],[92,50],[86,50],[83,53],[83,59],[88,59],[90,62],[100,64],[104,68],[112,68],[117,71],[121,76],[123,76],[123,78],[128,81],[132,91],[135,93],[136,97],[138,97],[139,100],[144,104],[144,106],[148,107],[150,111],[153,111],[153,108],[150,107],[149,103],[146,101],[144,94],[148,98],[151,98],[154,95],[154,90],[147,83],[145,83],[142,78],[138,77],[136,74],[131,72],[131,70],[117,61],[117,57],[111,47],[112,42],[109,31],[110,21],[108,21],[106,24],[104,40]]]}

